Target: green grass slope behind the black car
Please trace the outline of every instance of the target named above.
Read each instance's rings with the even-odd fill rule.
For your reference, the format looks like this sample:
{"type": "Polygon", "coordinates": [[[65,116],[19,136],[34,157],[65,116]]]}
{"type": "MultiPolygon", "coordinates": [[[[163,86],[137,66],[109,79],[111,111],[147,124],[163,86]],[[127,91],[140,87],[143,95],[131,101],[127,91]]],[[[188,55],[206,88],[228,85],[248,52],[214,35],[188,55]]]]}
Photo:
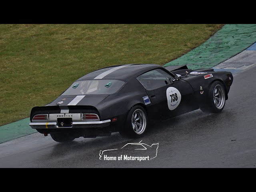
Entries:
{"type": "Polygon", "coordinates": [[[221,24],[0,24],[0,125],[47,104],[102,67],[165,64],[221,24]]]}

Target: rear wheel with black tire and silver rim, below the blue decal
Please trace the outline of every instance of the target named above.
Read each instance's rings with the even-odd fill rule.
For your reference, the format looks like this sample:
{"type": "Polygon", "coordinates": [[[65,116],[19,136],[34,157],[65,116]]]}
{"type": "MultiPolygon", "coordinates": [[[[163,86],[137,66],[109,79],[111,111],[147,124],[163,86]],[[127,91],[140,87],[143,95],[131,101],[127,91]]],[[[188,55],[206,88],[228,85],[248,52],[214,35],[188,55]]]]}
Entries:
{"type": "Polygon", "coordinates": [[[125,121],[125,126],[119,133],[128,138],[140,138],[145,135],[148,130],[148,116],[146,110],[142,106],[133,106],[132,109],[128,112],[128,116],[125,121]],[[134,119],[134,115],[136,114],[136,119],[134,119]],[[138,116],[138,117],[137,117],[138,116]],[[138,124],[141,127],[138,127],[138,124]]]}

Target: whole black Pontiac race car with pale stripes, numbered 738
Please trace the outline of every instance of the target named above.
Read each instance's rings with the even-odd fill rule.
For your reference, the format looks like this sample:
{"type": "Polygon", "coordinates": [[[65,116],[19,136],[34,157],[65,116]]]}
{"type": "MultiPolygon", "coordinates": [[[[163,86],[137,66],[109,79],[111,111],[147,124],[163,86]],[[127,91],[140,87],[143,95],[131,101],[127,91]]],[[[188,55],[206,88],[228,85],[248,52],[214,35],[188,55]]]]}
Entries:
{"type": "Polygon", "coordinates": [[[232,82],[232,73],[213,69],[111,66],[79,78],[46,106],[32,108],[29,125],[56,142],[112,132],[138,138],[154,120],[199,108],[221,112],[232,82]]]}

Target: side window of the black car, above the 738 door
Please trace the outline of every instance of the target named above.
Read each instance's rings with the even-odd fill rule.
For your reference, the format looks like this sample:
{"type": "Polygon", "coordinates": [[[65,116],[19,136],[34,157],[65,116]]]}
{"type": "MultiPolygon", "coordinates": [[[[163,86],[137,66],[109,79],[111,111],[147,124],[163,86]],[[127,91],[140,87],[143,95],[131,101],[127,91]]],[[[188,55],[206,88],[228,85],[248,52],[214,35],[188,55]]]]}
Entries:
{"type": "Polygon", "coordinates": [[[170,84],[172,76],[162,69],[155,69],[137,77],[146,90],[153,90],[170,84]]]}

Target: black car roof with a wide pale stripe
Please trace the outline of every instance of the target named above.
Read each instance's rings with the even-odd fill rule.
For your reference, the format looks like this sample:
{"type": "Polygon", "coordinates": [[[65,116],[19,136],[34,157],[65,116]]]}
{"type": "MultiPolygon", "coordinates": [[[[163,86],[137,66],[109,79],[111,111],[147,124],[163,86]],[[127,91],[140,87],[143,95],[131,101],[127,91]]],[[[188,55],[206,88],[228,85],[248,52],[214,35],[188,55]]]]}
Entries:
{"type": "Polygon", "coordinates": [[[162,68],[162,66],[157,64],[126,64],[119,66],[111,66],[107,68],[102,68],[82,76],[78,80],[88,80],[88,79],[120,79],[128,80],[129,78],[134,78],[140,74],[152,70],[154,68],[162,68]]]}

